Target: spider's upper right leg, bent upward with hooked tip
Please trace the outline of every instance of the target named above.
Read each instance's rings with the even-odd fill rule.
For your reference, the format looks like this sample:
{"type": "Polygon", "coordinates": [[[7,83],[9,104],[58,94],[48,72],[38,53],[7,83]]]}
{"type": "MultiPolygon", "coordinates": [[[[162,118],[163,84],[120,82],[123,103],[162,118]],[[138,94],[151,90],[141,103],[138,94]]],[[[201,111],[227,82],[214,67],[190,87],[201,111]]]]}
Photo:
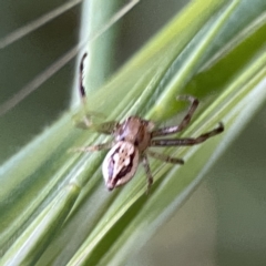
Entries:
{"type": "Polygon", "coordinates": [[[191,119],[198,105],[198,100],[191,95],[182,95],[182,96],[178,96],[178,99],[191,102],[191,106],[190,106],[187,114],[184,116],[184,119],[182,120],[182,122],[178,125],[166,126],[166,127],[162,127],[162,129],[157,129],[157,130],[153,131],[152,137],[174,134],[176,132],[182,131],[191,122],[191,119]]]}

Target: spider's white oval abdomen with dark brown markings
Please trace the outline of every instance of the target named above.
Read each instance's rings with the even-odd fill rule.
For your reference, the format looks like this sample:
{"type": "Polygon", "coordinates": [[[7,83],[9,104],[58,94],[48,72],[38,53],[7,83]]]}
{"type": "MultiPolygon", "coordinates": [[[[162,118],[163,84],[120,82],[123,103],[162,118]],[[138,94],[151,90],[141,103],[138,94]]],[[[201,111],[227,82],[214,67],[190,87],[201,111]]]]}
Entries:
{"type": "Polygon", "coordinates": [[[117,142],[103,161],[103,177],[106,187],[114,187],[127,183],[135,174],[139,164],[139,151],[130,142],[117,142]]]}

